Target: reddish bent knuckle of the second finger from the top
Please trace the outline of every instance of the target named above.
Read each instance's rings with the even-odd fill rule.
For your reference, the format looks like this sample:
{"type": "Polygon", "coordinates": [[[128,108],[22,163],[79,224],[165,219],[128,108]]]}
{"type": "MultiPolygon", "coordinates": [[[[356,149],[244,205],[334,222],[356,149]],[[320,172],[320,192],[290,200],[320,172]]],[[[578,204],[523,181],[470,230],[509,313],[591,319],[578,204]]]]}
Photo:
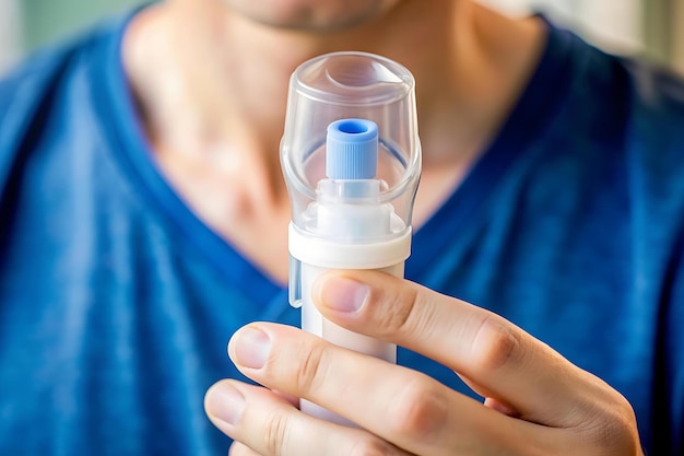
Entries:
{"type": "Polygon", "coordinates": [[[440,388],[428,378],[406,385],[393,405],[390,426],[397,435],[414,441],[431,441],[447,423],[448,401],[440,388]]]}

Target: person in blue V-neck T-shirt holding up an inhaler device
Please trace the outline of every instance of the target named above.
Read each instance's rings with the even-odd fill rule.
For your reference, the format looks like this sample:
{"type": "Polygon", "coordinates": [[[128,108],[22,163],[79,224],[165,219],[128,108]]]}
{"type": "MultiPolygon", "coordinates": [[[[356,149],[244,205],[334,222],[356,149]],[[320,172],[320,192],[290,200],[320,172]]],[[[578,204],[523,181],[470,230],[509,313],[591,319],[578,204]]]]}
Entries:
{"type": "Polygon", "coordinates": [[[0,454],[682,455],[683,122],[668,71],[471,0],[167,0],[40,51],[0,83],[0,454]],[[416,79],[406,280],[314,290],[399,365],[287,305],[287,81],[335,50],[416,79]]]}

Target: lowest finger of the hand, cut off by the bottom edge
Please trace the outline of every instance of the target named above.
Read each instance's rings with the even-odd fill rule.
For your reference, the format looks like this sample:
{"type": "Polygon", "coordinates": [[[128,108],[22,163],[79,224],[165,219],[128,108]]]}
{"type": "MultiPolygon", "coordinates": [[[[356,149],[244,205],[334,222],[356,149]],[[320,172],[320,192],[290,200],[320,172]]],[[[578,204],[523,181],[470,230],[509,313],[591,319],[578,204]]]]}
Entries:
{"type": "Polygon", "coordinates": [[[269,389],[235,381],[213,385],[204,409],[237,442],[231,456],[408,456],[375,435],[308,417],[269,389]]]}

